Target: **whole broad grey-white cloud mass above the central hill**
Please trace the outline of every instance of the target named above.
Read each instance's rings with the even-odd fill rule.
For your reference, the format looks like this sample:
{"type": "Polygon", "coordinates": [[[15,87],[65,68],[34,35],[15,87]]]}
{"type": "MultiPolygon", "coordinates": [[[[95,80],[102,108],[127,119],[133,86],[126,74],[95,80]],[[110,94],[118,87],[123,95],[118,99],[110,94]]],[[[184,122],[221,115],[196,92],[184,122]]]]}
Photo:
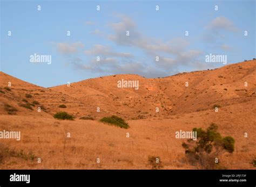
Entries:
{"type": "MultiPolygon", "coordinates": [[[[85,63],[74,59],[72,64],[77,69],[100,73],[100,75],[139,74],[145,77],[163,77],[169,76],[171,73],[178,73],[179,66],[201,67],[199,59],[203,52],[187,49],[190,45],[188,40],[172,38],[163,41],[147,37],[144,33],[139,32],[137,25],[129,17],[124,15],[117,15],[117,17],[120,19],[117,23],[109,24],[113,33],[104,37],[116,44],[117,47],[113,49],[111,44],[96,44],[92,48],[84,50],[84,54],[91,60],[85,63]],[[126,31],[130,32],[129,36],[126,36],[126,31]],[[118,52],[116,49],[119,46],[129,47],[132,50],[139,49],[142,55],[133,56],[129,52],[118,52]],[[100,61],[96,60],[96,56],[100,57],[100,61]],[[158,62],[156,62],[156,56],[159,56],[158,62]]],[[[92,33],[102,36],[102,32],[99,30],[92,33]]],[[[74,46],[71,46],[71,52],[75,51],[72,47],[74,46]]]]}

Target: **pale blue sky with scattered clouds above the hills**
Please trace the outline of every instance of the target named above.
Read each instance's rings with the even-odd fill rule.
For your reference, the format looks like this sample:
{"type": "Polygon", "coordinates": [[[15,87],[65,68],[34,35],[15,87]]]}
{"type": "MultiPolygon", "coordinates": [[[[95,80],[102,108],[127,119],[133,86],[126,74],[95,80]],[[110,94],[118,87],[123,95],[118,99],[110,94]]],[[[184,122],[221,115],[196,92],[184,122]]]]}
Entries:
{"type": "Polygon", "coordinates": [[[1,0],[0,70],[47,88],[113,74],[165,77],[250,60],[256,56],[255,4],[1,0]],[[51,56],[51,63],[31,61],[34,54],[51,56]],[[225,55],[227,63],[206,62],[210,54],[225,55]]]}

